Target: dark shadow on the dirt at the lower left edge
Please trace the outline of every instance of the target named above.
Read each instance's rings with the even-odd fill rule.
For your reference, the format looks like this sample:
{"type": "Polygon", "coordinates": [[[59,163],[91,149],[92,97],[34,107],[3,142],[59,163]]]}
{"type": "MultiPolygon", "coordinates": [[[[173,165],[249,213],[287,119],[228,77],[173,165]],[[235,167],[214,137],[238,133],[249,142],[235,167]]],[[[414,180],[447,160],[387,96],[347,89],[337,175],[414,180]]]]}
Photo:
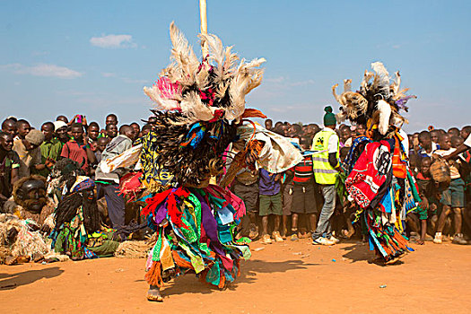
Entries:
{"type": "Polygon", "coordinates": [[[52,278],[64,273],[59,267],[27,270],[15,274],[0,274],[0,291],[12,290],[21,285],[34,283],[43,278],[52,278]]]}

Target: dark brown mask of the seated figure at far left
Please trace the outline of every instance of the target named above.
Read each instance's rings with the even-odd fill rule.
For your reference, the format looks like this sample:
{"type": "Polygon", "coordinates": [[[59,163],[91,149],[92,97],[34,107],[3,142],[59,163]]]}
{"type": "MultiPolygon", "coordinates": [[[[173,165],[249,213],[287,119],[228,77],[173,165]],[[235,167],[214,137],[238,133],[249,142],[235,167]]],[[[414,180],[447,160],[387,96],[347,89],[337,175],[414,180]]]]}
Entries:
{"type": "Polygon", "coordinates": [[[48,203],[46,186],[41,180],[25,181],[18,189],[17,196],[21,200],[22,207],[33,214],[39,214],[42,207],[48,203]]]}

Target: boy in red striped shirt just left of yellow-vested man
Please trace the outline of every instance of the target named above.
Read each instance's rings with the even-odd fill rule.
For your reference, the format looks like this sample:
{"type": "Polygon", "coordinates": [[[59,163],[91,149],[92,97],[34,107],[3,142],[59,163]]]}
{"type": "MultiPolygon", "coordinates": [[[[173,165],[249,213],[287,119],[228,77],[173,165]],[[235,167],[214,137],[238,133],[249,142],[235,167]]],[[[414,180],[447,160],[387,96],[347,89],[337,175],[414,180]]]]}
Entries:
{"type": "MultiPolygon", "coordinates": [[[[304,151],[310,149],[310,140],[301,137],[301,148],[304,151]]],[[[310,234],[316,227],[316,196],[314,189],[314,172],[312,170],[312,155],[304,157],[304,160],[294,166],[294,178],[292,188],[292,240],[305,238],[306,232],[298,231],[299,216],[305,215],[309,219],[310,234]]],[[[306,224],[308,224],[308,219],[306,224]]]]}

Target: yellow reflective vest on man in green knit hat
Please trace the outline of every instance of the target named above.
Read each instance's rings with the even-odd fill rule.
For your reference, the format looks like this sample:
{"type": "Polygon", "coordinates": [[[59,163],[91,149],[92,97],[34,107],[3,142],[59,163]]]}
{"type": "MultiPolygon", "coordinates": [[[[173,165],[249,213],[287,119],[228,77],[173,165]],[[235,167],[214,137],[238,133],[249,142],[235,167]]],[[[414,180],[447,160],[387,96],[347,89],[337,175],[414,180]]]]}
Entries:
{"type": "MultiPolygon", "coordinates": [[[[312,151],[318,152],[312,155],[312,168],[314,178],[318,184],[336,184],[338,171],[328,162],[328,139],[335,135],[335,131],[320,131],[312,140],[312,151]]],[[[336,159],[339,158],[340,146],[337,141],[336,159]]]]}

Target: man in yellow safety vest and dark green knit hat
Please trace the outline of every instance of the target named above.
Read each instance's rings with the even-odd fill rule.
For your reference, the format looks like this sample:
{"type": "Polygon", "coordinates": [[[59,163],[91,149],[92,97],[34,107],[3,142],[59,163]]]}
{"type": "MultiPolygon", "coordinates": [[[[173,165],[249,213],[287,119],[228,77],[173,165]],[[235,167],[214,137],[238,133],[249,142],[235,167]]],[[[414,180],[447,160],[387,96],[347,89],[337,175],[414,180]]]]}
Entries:
{"type": "Polygon", "coordinates": [[[318,227],[312,234],[312,244],[333,245],[338,242],[332,236],[330,217],[336,208],[336,178],[342,169],[339,164],[339,139],[336,135],[336,115],[332,107],[325,108],[324,128],[312,140],[312,167],[314,178],[320,185],[324,205],[319,214],[318,227]]]}

